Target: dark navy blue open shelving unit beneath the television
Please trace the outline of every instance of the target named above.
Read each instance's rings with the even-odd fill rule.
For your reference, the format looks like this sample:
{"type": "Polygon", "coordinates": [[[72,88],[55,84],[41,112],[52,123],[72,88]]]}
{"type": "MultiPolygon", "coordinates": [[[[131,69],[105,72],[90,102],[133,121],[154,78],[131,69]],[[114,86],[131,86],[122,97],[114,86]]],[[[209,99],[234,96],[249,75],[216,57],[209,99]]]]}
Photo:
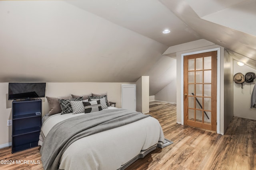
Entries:
{"type": "Polygon", "coordinates": [[[42,100],[12,102],[12,153],[38,146],[42,100]]]}

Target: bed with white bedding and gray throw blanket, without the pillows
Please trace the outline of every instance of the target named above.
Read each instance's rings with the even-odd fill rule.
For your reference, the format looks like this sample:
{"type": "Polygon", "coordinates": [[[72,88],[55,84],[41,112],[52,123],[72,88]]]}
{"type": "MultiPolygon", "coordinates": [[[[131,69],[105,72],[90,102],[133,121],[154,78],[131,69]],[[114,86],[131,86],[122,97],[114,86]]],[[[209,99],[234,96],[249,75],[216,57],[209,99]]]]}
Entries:
{"type": "Polygon", "coordinates": [[[108,106],[91,113],[46,115],[38,145],[47,170],[118,170],[163,143],[157,119],[108,106]]]}

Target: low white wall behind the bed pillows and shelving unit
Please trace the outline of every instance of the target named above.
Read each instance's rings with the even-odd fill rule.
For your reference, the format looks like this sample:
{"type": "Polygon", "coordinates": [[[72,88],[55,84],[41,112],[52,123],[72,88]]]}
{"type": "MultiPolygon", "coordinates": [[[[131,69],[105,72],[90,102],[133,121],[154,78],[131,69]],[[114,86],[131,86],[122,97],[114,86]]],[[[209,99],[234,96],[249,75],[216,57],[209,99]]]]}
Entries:
{"type": "MultiPolygon", "coordinates": [[[[108,100],[116,102],[121,108],[121,84],[134,83],[108,83],[108,82],[73,82],[73,83],[47,83],[46,96],[58,97],[67,94],[88,94],[108,92],[108,100]]],[[[48,103],[42,98],[42,115],[48,113],[48,103]]],[[[12,119],[12,100],[8,100],[8,83],[0,83],[0,147],[12,141],[12,126],[7,126],[7,120],[12,119]]]]}

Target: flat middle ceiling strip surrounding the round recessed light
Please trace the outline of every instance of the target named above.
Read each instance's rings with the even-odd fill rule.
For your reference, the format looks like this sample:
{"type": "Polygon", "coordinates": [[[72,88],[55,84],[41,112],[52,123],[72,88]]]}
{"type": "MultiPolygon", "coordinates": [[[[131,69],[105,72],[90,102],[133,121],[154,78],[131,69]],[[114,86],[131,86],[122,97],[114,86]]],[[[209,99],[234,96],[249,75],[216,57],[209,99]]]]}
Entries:
{"type": "Polygon", "coordinates": [[[168,47],[200,36],[158,0],[69,0],[69,4],[96,14],[168,47]],[[163,34],[170,29],[171,34],[163,34]]]}

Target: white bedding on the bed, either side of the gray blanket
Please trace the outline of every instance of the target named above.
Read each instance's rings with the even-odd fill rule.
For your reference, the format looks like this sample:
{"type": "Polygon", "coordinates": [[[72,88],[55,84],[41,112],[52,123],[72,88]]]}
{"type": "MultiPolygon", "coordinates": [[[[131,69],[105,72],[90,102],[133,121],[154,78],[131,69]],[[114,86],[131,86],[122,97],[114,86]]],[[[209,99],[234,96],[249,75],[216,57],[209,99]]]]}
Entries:
{"type": "MultiPolygon", "coordinates": [[[[108,109],[114,109],[109,107],[108,109]]],[[[50,129],[72,113],[52,115],[42,124],[41,133],[47,137],[50,129]]],[[[93,114],[93,113],[87,113],[93,114]]],[[[44,137],[40,136],[39,145],[44,137]]],[[[164,141],[162,127],[157,119],[146,117],[134,123],[84,137],[72,143],[60,158],[59,169],[116,170],[146,150],[164,141]]],[[[124,166],[125,167],[125,166],[124,166]]]]}

